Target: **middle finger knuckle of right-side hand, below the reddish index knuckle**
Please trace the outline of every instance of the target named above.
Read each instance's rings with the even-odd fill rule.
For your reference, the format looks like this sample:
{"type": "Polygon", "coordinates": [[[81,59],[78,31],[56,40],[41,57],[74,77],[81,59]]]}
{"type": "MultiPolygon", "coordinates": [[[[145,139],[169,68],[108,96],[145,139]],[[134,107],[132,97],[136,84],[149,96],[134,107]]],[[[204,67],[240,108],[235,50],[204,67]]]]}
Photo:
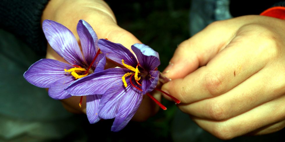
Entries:
{"type": "Polygon", "coordinates": [[[209,116],[214,120],[226,119],[225,108],[219,101],[210,101],[208,103],[209,116]]]}

